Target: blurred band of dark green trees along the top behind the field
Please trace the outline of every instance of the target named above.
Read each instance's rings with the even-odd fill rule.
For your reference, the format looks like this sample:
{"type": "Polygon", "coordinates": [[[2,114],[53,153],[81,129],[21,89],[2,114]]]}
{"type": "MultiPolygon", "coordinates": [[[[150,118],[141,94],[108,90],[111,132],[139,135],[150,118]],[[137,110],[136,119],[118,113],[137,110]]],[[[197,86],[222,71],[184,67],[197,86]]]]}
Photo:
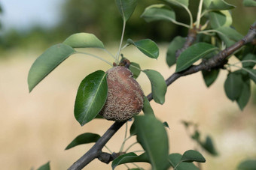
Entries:
{"type": "MultiPolygon", "coordinates": [[[[235,4],[232,10],[233,26],[245,34],[248,25],[254,22],[256,10],[253,7],[243,7],[242,1],[227,0],[235,4]]],[[[157,0],[139,0],[133,16],[126,23],[124,40],[133,38],[150,38],[154,41],[169,42],[176,35],[186,36],[187,28],[174,25],[171,22],[145,22],[140,15],[151,4],[163,3],[157,0]]],[[[193,16],[197,16],[199,0],[190,0],[190,10],[193,16]],[[192,3],[193,2],[193,3],[192,3]]],[[[114,0],[66,0],[60,7],[62,18],[54,28],[41,28],[34,26],[26,31],[8,30],[0,37],[0,51],[11,48],[31,49],[47,48],[54,43],[60,43],[70,34],[89,32],[96,34],[105,44],[120,40],[122,19],[114,0]]],[[[180,22],[188,23],[185,10],[173,7],[176,18],[180,22]]]]}

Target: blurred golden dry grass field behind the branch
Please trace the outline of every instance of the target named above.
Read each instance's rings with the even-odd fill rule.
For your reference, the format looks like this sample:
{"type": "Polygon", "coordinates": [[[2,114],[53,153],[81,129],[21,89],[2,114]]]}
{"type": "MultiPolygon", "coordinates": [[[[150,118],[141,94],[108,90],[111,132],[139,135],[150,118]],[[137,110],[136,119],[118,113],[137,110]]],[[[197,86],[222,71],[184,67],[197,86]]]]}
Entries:
{"type": "MultiPolygon", "coordinates": [[[[142,69],[158,70],[165,78],[174,72],[174,67],[169,69],[165,64],[166,46],[161,48],[158,60],[132,50],[132,47],[125,49],[124,55],[141,64],[142,69]]],[[[72,56],[29,94],[27,74],[40,53],[8,52],[7,58],[0,60],[1,169],[38,168],[48,160],[52,169],[67,169],[92,146],[81,145],[64,151],[69,142],[81,133],[102,135],[112,124],[111,121],[95,120],[81,127],[73,115],[79,83],[94,70],[107,70],[107,64],[87,56],[72,56]]],[[[102,52],[96,53],[107,56],[102,52]]],[[[203,169],[235,169],[241,160],[256,157],[255,107],[247,106],[240,112],[236,103],[227,99],[223,88],[226,75],[227,72],[221,71],[221,76],[211,88],[206,88],[200,73],[183,77],[168,88],[163,106],[151,102],[157,118],[169,124],[167,132],[171,153],[182,154],[196,147],[187,136],[181,120],[194,121],[199,124],[203,136],[212,136],[220,156],[212,157],[202,151],[206,157],[203,169]]],[[[138,81],[148,94],[151,86],[146,76],[142,74],[138,81]]],[[[112,151],[119,151],[123,132],[124,127],[108,142],[112,151]]],[[[132,139],[128,144],[134,141],[132,139]]],[[[131,151],[136,150],[140,150],[139,145],[131,151]]],[[[139,165],[150,169],[147,164],[139,165]]],[[[111,166],[93,160],[85,169],[111,169],[111,166]]]]}

